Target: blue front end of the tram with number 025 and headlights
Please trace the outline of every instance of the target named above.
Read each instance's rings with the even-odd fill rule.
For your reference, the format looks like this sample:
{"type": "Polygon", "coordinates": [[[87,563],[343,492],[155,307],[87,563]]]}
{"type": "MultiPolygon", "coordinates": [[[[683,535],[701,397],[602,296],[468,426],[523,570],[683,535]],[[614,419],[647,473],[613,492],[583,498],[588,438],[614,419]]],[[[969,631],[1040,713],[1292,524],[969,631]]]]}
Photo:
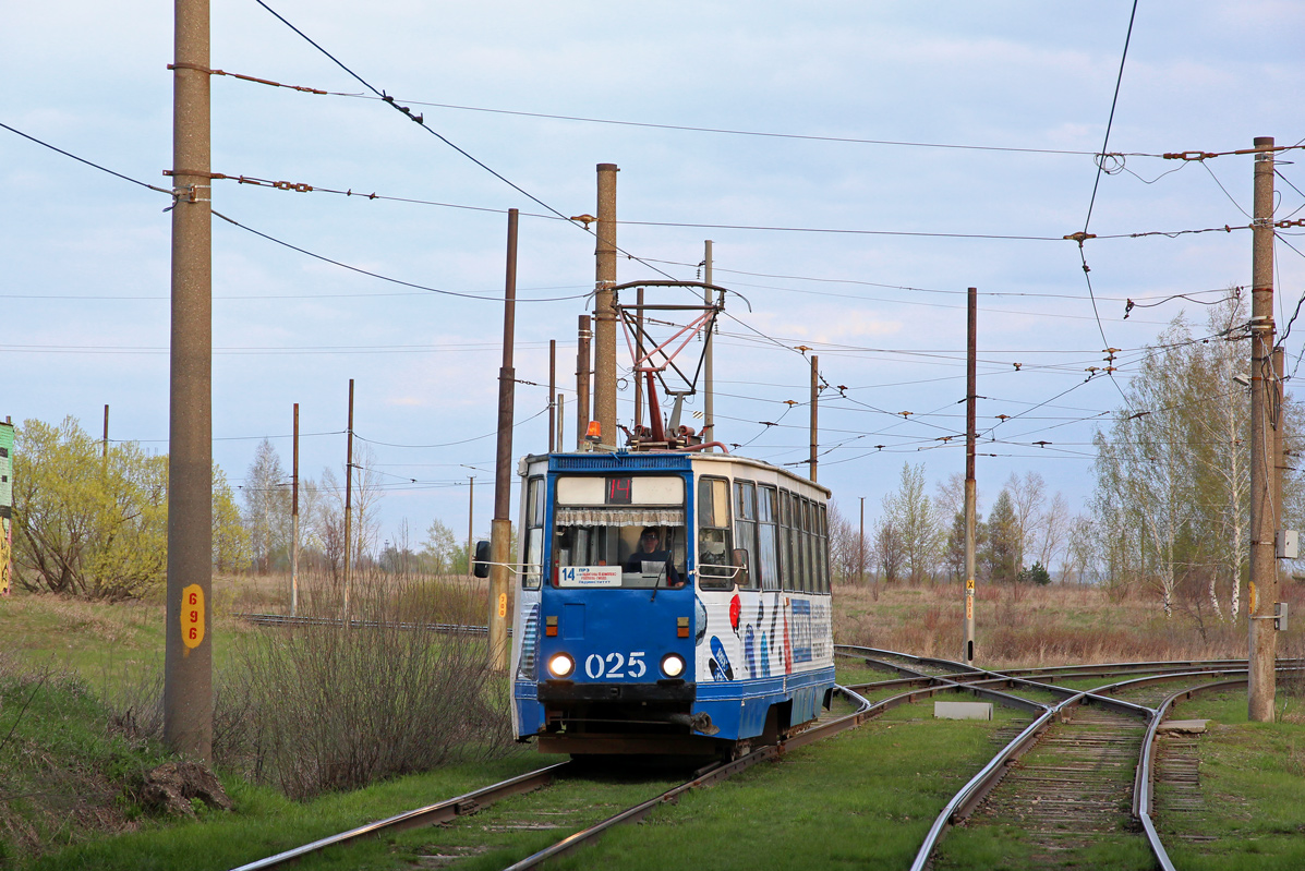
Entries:
{"type": "Polygon", "coordinates": [[[569,754],[713,752],[694,713],[685,455],[525,460],[513,643],[517,735],[569,754]]]}

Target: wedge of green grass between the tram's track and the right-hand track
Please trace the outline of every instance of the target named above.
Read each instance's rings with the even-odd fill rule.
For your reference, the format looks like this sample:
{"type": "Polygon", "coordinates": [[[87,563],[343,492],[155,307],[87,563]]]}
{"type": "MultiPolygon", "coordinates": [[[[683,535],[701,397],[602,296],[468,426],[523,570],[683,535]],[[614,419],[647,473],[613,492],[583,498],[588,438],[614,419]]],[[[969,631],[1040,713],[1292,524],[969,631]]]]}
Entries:
{"type": "MultiPolygon", "coordinates": [[[[989,756],[994,725],[936,721],[924,704],[898,708],[696,790],[552,867],[906,867],[942,806],[989,756]]],[[[496,859],[466,867],[505,864],[496,859]]]]}

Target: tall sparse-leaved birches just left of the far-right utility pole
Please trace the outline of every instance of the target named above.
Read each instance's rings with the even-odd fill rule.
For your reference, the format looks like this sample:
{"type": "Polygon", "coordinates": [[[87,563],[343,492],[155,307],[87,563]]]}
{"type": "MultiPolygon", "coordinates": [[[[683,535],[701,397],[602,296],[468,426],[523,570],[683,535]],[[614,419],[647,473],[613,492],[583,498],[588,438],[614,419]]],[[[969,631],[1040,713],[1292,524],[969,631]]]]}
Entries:
{"type": "MultiPolygon", "coordinates": [[[[1142,359],[1109,432],[1095,439],[1098,524],[1117,536],[1109,568],[1156,587],[1165,615],[1189,572],[1207,578],[1211,610],[1221,614],[1220,580],[1229,613],[1238,610],[1250,415],[1232,376],[1245,374],[1242,318],[1235,299],[1212,312],[1211,343],[1176,317],[1142,359]]],[[[1291,429],[1291,407],[1284,411],[1291,429]]]]}

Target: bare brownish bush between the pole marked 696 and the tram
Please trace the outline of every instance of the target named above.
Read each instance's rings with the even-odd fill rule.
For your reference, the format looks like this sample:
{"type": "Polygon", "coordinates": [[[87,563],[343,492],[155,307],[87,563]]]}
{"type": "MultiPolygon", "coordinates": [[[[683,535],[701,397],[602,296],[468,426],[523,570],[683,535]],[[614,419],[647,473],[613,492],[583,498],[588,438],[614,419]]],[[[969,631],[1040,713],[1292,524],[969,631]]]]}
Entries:
{"type": "Polygon", "coordinates": [[[437,582],[371,578],[351,597],[364,626],[252,636],[214,716],[214,754],[221,731],[227,764],[307,798],[502,752],[510,722],[485,639],[424,628],[450,610],[452,622],[483,622],[480,604],[437,582]]]}

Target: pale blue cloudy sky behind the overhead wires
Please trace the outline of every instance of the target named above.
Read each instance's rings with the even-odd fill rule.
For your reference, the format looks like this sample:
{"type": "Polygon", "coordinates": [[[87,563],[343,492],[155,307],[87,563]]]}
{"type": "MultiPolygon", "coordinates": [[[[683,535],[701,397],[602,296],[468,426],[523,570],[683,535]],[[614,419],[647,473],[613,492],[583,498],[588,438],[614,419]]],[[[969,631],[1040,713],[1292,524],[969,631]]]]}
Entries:
{"type": "MultiPolygon", "coordinates": [[[[1138,349],[1180,312],[1201,331],[1193,300],[1250,284],[1250,232],[1236,228],[1251,158],[1155,155],[1305,140],[1305,7],[1139,4],[1107,146],[1128,156],[1100,176],[1087,224],[1100,239],[1083,249],[1094,314],[1062,237],[1088,220],[1126,0],[269,5],[425,129],[254,0],[215,3],[214,68],[356,96],[214,77],[213,171],[445,205],[214,181],[214,209],[248,228],[214,219],[214,456],[239,485],[266,436],[288,471],[298,402],[301,475],[338,468],[354,378],[355,432],[389,488],[385,537],[405,518],[414,540],[432,518],[466,529],[468,475],[488,529],[509,207],[522,213],[517,374],[547,385],[557,340],[573,438],[594,243],[549,210],[596,213],[598,163],[621,168],[625,252],[694,279],[711,239],[715,282],[741,295],[716,346],[722,441],[805,460],[796,346],[847,387],[822,396],[820,481],[855,518],[860,497],[878,514],[903,463],[925,463],[930,481],[963,471],[963,439],[934,439],[964,430],[970,286],[980,428],[1026,412],[981,449],[996,454],[980,458],[981,507],[1032,469],[1079,510],[1094,426],[1121,404],[1138,349]],[[1180,293],[1124,319],[1128,299],[1180,293]],[[1118,385],[1084,383],[1105,347],[1122,349],[1118,385]]],[[[171,4],[10,4],[0,123],[167,186],[170,60],[171,4]]],[[[1298,154],[1279,155],[1279,219],[1305,202],[1298,154]]],[[[98,436],[107,403],[111,438],[166,450],[168,202],[0,129],[0,416],[72,415],[98,436]]],[[[1305,292],[1300,232],[1276,245],[1279,330],[1305,292]]],[[[643,278],[663,275],[620,259],[621,282],[643,278]]],[[[626,421],[632,400],[628,389],[626,421]]],[[[515,455],[545,447],[545,407],[544,387],[518,385],[515,455]]]]}

